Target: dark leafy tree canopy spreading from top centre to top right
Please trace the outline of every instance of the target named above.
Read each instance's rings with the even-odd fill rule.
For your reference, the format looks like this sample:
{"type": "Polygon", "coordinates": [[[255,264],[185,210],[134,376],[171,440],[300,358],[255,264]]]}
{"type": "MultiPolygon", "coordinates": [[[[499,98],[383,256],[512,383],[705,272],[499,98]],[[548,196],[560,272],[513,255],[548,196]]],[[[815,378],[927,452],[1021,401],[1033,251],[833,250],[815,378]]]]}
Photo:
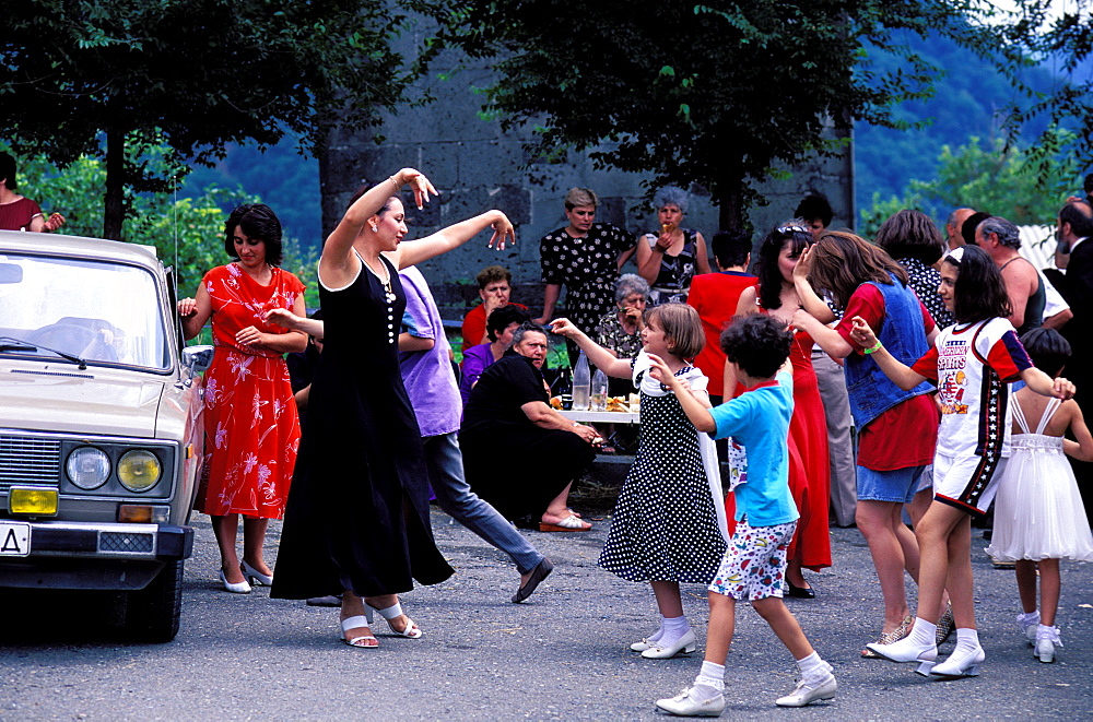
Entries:
{"type": "MultiPolygon", "coordinates": [[[[485,111],[505,127],[536,123],[534,156],[595,149],[600,166],[654,174],[650,187],[698,184],[721,204],[722,225],[740,227],[775,166],[848,142],[830,140],[831,126],[842,137],[859,120],[910,126],[892,109],[928,97],[941,69],[901,45],[905,34],[938,33],[989,56],[1023,88],[1026,54],[1046,43],[1033,10],[1048,0],[1026,0],[1008,23],[983,0],[453,4],[439,40],[498,58],[485,111]],[[878,52],[901,62],[879,66],[878,52]]],[[[1058,51],[1086,52],[1053,33],[1058,51]]],[[[1059,110],[1070,97],[1060,93],[1043,109],[1059,110]]]]}

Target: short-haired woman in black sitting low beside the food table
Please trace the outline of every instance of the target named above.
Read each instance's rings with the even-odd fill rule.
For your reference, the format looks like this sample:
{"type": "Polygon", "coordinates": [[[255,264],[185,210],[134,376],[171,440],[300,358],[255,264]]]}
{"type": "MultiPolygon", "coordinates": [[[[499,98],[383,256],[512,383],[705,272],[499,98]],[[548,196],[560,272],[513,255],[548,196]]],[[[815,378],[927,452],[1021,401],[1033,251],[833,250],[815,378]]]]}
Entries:
{"type": "Polygon", "coordinates": [[[569,487],[592,463],[599,433],[550,407],[546,332],[530,321],[471,390],[459,429],[467,482],[507,519],[538,517],[540,531],[583,532],[569,487]]]}

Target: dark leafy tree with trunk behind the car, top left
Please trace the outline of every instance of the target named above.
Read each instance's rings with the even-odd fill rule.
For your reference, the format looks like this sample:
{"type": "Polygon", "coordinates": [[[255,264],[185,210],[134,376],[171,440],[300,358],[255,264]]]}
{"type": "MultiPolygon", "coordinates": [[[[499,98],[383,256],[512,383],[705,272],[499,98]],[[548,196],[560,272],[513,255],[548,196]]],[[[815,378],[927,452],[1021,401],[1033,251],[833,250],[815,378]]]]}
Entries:
{"type": "MultiPolygon", "coordinates": [[[[120,238],[126,189],[174,189],[228,142],[305,149],[337,119],[401,103],[403,22],[389,3],[312,0],[20,0],[0,26],[0,107],[17,155],[104,158],[103,235],[120,238]],[[153,147],[165,163],[150,163],[153,147]],[[160,169],[156,173],[154,169],[160,169]]],[[[131,197],[130,197],[131,198],[131,197]]]]}

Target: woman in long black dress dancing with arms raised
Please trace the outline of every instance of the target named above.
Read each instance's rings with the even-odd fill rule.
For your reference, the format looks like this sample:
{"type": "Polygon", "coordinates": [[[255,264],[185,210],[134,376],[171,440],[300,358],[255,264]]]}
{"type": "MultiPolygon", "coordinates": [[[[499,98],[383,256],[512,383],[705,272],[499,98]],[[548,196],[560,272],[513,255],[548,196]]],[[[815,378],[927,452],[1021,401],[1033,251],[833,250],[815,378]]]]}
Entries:
{"type": "Polygon", "coordinates": [[[438,256],[487,227],[490,240],[515,241],[513,224],[487,211],[401,244],[407,234],[397,193],[413,189],[421,208],[432,184],[403,168],[355,200],[327,238],[319,259],[325,347],[289,505],[272,596],[343,594],[342,639],[378,644],[373,611],[391,630],[416,638],[398,594],[444,581],[453,571],[428,522],[427,471],[421,433],[399,374],[398,335],[406,296],[398,271],[438,256]],[[396,196],[392,196],[396,193],[396,196]]]}

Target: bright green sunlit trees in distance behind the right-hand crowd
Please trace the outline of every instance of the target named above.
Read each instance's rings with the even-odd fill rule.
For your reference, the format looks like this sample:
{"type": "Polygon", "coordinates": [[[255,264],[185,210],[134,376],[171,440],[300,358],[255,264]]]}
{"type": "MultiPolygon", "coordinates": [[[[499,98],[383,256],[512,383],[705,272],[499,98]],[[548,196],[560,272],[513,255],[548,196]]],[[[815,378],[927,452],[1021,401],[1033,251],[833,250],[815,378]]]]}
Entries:
{"type": "Polygon", "coordinates": [[[1081,188],[1078,163],[1061,149],[1073,134],[1051,130],[1035,147],[1008,145],[1001,139],[972,138],[953,151],[945,145],[932,180],[913,179],[903,198],[873,194],[861,211],[860,233],[871,238],[896,211],[915,209],[943,223],[954,208],[968,206],[1000,215],[1018,225],[1050,224],[1067,196],[1081,188]]]}

